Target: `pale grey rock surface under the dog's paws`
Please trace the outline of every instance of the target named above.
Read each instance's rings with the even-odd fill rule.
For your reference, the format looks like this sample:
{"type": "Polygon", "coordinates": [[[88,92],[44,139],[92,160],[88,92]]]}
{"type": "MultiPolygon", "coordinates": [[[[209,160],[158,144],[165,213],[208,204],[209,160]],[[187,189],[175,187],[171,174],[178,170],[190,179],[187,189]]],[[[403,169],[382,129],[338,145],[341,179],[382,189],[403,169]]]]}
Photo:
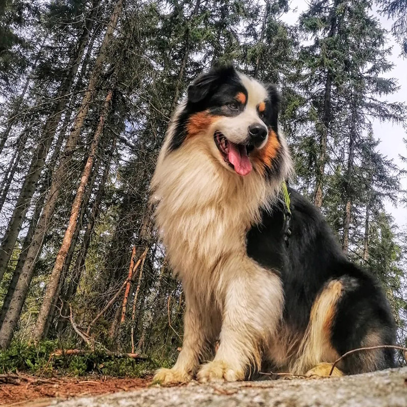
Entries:
{"type": "Polygon", "coordinates": [[[407,407],[407,367],[326,379],[149,389],[54,401],[57,407],[407,407]]]}

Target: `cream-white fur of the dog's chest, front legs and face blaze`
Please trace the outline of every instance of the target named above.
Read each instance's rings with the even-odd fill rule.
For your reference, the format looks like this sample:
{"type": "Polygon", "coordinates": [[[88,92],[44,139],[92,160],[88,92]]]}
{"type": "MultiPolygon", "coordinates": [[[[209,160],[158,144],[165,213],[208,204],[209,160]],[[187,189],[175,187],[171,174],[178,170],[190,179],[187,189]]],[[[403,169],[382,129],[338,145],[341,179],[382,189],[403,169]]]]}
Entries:
{"type": "MultiPolygon", "coordinates": [[[[236,123],[238,128],[246,126],[256,104],[267,96],[258,82],[241,78],[249,93],[248,111],[240,124],[238,118],[230,119],[230,132],[236,123]]],[[[280,278],[248,257],[245,236],[259,219],[259,209],[269,208],[277,198],[291,161],[281,137],[286,166],[279,179],[267,181],[256,167],[239,176],[215,146],[219,122],[169,152],[184,105],[169,126],[152,181],[156,224],[187,302],[182,351],[176,365],[161,369],[156,380],[189,380],[218,337],[216,356],[201,368],[198,379],[243,380],[250,364],[259,365],[261,348],[271,346],[283,309],[280,278]]],[[[221,131],[226,135],[224,128],[221,131]]]]}

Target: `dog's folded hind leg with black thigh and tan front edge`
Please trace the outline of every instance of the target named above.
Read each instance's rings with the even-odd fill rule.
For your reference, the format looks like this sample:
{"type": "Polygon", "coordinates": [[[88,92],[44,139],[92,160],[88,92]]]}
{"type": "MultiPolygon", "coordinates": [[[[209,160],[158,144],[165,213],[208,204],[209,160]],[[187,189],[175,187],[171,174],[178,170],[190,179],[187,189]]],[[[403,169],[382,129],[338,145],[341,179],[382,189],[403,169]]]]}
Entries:
{"type": "MultiPolygon", "coordinates": [[[[393,317],[380,287],[363,274],[345,275],[331,280],[315,299],[298,358],[290,371],[329,375],[328,365],[332,367],[346,352],[393,342],[393,317]]],[[[384,369],[393,366],[393,354],[390,348],[358,351],[336,367],[345,374],[384,369]]]]}

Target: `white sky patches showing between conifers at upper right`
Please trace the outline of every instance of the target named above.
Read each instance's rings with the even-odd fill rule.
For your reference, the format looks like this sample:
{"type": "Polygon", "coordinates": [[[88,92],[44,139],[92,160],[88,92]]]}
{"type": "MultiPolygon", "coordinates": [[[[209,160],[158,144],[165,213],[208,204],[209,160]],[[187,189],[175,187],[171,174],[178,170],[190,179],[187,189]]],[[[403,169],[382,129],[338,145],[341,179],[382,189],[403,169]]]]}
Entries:
{"type": "MultiPolygon", "coordinates": [[[[308,2],[304,0],[292,0],[290,2],[290,8],[292,10],[283,15],[282,20],[288,24],[296,24],[299,14],[305,11],[307,7],[308,2]]],[[[373,11],[372,14],[378,18],[382,26],[390,32],[392,21],[386,17],[382,17],[375,11],[373,11]]],[[[392,54],[389,55],[388,59],[394,64],[394,68],[391,72],[383,76],[396,78],[400,89],[393,95],[386,96],[383,100],[388,100],[389,102],[405,102],[407,99],[407,59],[403,60],[402,57],[399,56],[401,48],[390,33],[388,35],[388,45],[393,47],[392,54]]],[[[380,152],[387,156],[387,158],[393,159],[399,168],[405,167],[399,158],[399,154],[407,157],[407,149],[403,143],[403,138],[407,138],[407,134],[402,126],[392,125],[391,123],[380,123],[378,120],[375,120],[373,122],[373,131],[375,137],[381,140],[379,144],[380,152]]],[[[404,177],[401,183],[402,188],[407,190],[407,177],[404,177]]],[[[407,225],[407,208],[401,205],[395,208],[390,202],[387,202],[386,209],[392,214],[398,226],[407,225]]]]}

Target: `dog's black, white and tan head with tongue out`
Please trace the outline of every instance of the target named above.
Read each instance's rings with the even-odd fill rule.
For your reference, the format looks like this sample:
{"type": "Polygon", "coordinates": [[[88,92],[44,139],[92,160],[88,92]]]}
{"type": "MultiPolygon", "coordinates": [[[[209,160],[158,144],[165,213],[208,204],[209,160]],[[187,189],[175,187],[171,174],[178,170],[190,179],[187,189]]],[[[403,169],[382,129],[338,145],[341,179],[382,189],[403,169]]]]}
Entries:
{"type": "MultiPolygon", "coordinates": [[[[285,143],[278,134],[279,95],[233,67],[195,79],[175,115],[166,154],[195,143],[226,171],[272,176],[284,166],[285,143]]],[[[283,171],[284,172],[284,171],[283,171]]]]}

